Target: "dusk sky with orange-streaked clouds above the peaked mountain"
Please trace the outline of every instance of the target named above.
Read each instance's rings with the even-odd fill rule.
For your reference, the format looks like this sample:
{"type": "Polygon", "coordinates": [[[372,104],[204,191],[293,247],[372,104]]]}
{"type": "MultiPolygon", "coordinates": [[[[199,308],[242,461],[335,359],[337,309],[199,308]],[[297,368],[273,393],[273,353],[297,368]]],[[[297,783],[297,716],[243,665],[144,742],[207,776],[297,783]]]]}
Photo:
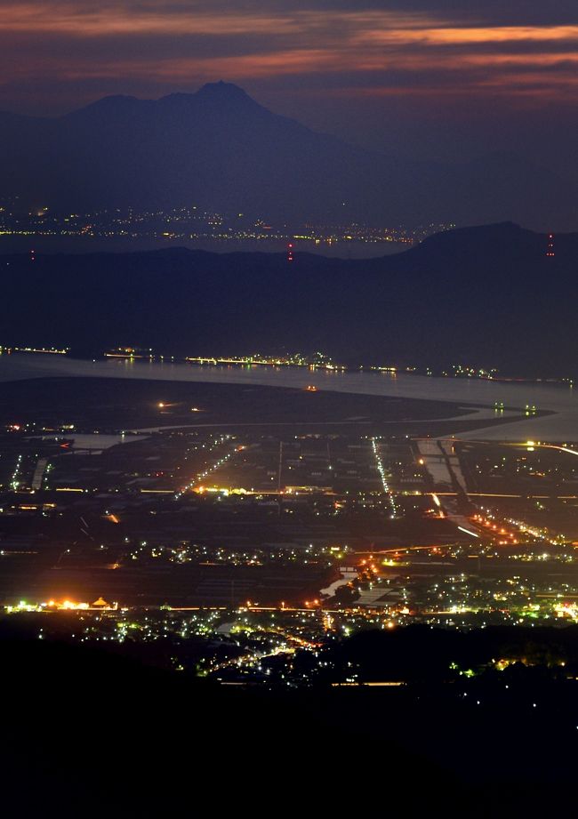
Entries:
{"type": "Polygon", "coordinates": [[[574,173],[576,0],[4,0],[0,11],[4,110],[58,115],[224,79],[390,153],[506,149],[574,173]]]}

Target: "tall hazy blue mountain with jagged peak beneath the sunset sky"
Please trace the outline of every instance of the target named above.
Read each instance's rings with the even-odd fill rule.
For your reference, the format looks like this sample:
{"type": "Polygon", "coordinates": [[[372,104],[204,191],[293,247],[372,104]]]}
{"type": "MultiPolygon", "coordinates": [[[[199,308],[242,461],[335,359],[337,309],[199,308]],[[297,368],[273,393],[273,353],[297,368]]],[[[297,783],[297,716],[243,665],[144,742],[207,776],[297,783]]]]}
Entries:
{"type": "Polygon", "coordinates": [[[400,161],[271,113],[237,85],[105,97],[68,115],[0,113],[0,191],[27,207],[200,205],[276,221],[578,223],[574,183],[519,157],[400,161]]]}

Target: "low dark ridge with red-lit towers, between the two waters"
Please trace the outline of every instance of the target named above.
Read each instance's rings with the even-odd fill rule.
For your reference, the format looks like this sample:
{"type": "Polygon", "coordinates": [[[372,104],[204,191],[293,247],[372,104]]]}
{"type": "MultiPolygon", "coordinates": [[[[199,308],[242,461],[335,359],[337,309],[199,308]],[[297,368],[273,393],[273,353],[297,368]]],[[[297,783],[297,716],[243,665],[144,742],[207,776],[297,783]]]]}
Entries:
{"type": "Polygon", "coordinates": [[[321,349],[350,365],[578,374],[578,234],[447,231],[380,259],[296,253],[0,256],[0,345],[165,355],[321,349]]]}

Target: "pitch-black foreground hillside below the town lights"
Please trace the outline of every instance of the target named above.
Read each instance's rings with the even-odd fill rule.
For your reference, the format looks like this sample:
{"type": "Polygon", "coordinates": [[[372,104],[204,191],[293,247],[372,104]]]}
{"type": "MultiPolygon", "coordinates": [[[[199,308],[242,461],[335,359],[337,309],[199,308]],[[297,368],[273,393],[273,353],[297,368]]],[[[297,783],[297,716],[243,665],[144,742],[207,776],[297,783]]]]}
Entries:
{"type": "MultiPolygon", "coordinates": [[[[351,650],[369,658],[381,642],[367,634],[351,650]]],[[[402,654],[430,659],[438,642],[417,630],[402,654]]],[[[436,674],[404,688],[267,691],[17,630],[4,629],[1,648],[5,815],[388,815],[395,806],[483,817],[538,815],[572,796],[572,696],[545,667],[502,677],[516,691],[507,703],[494,683],[442,685],[436,674]]]]}

